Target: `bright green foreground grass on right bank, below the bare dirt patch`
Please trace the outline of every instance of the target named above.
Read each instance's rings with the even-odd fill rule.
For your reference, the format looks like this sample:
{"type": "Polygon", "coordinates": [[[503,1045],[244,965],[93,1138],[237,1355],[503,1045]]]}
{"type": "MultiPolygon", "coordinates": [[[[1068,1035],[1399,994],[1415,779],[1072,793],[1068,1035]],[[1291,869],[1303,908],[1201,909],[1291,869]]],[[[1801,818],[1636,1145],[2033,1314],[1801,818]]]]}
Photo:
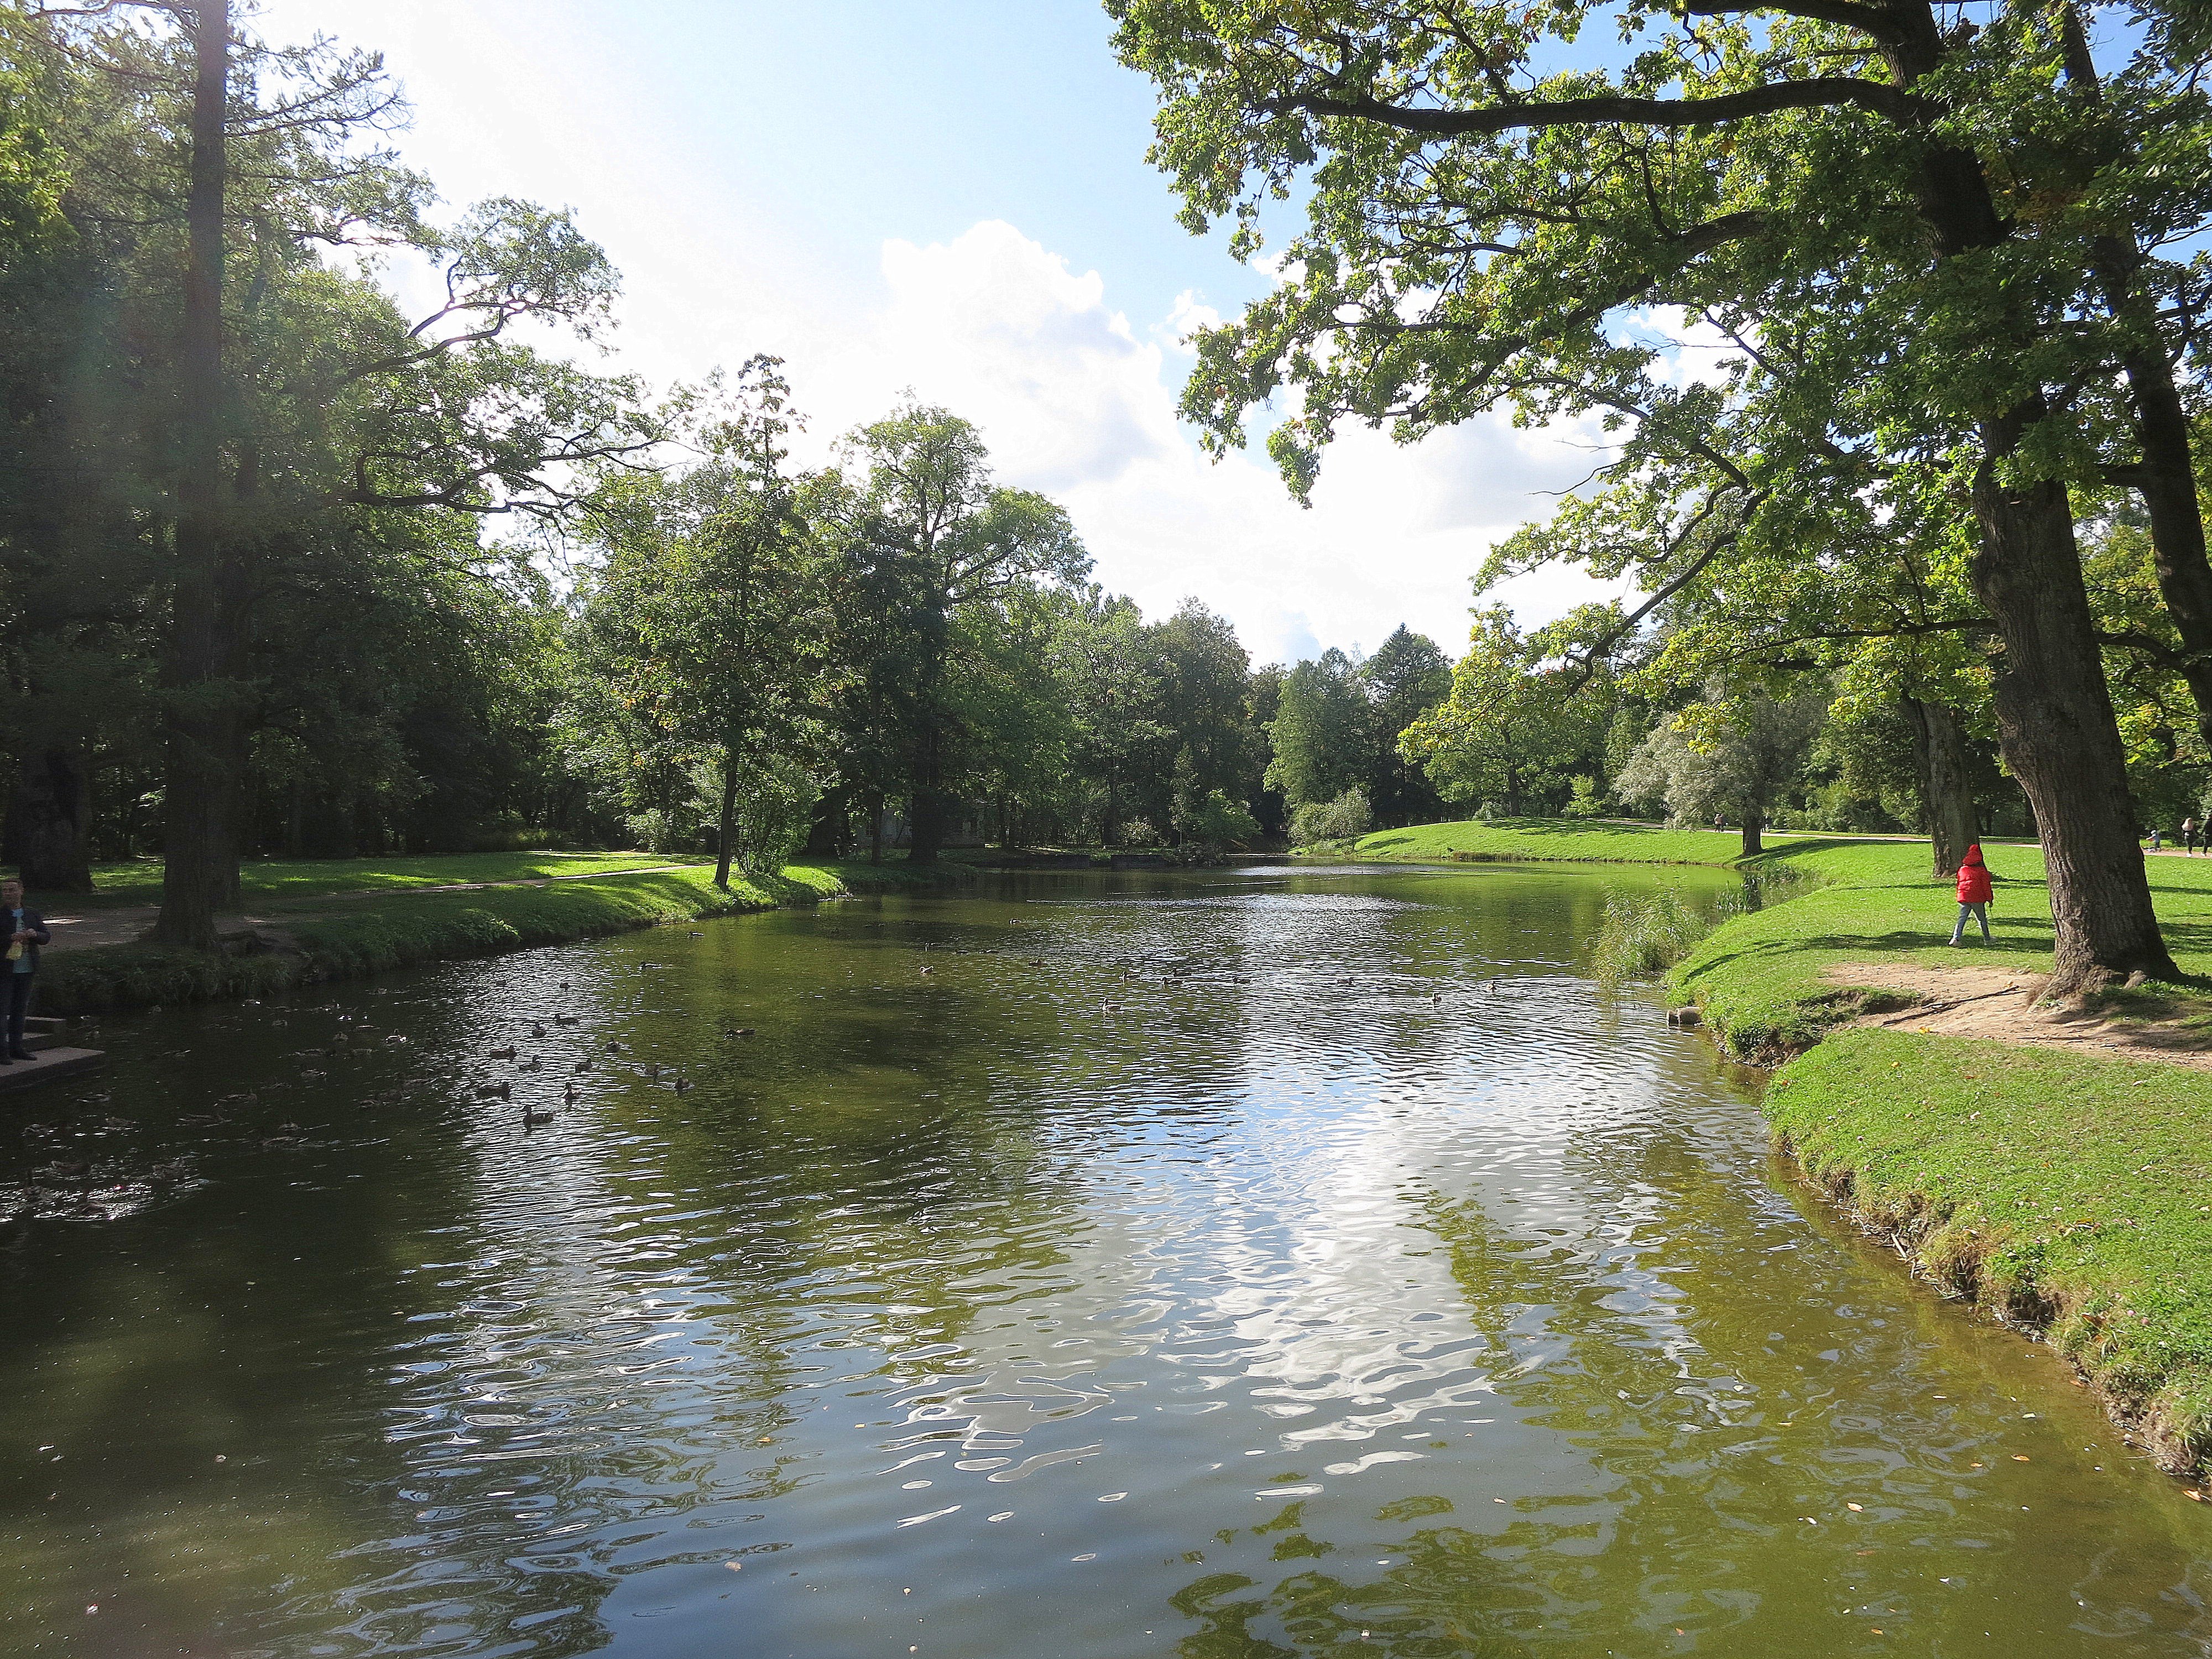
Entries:
{"type": "Polygon", "coordinates": [[[2161,1462],[2212,1453],[2212,1075],[1843,1031],[1765,1110],[1924,1272],[2046,1327],[2161,1462]]]}

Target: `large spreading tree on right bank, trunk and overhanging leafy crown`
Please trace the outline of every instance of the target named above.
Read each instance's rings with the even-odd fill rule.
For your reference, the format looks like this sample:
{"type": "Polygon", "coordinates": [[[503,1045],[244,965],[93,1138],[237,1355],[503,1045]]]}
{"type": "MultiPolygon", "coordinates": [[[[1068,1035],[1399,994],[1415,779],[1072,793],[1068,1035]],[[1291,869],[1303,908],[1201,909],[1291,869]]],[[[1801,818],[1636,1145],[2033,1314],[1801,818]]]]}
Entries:
{"type": "Polygon", "coordinates": [[[1905,434],[1971,507],[2000,739],[2046,841],[2055,989],[2172,973],[2068,484],[2070,387],[2115,356],[2079,323],[2095,226],[2174,177],[2084,166],[2066,100],[2035,97],[2064,75],[2048,13],[1975,33],[1929,0],[1637,9],[1648,49],[1615,75],[1542,69],[1597,20],[1586,0],[1108,9],[1124,60],[1161,84],[1155,155],[1192,228],[1237,217],[1254,252],[1265,204],[1310,197],[1287,281],[1201,336],[1186,411],[1217,442],[1298,383],[1270,445],[1303,489],[1345,418],[1418,438],[1500,400],[1606,407],[1624,361],[1650,356],[1613,327],[1628,310],[1790,323],[1825,396],[1770,447],[1905,434]],[[2022,210],[2042,201],[2084,206],[2022,210]]]}

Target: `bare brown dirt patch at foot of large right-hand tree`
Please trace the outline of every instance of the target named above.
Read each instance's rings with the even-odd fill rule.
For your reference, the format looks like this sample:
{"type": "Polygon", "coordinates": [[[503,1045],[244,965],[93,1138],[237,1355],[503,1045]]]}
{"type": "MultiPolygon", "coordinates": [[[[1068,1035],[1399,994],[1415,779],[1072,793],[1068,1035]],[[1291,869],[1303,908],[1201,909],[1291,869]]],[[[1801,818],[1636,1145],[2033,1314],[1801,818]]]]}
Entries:
{"type": "Polygon", "coordinates": [[[1889,1031],[1931,1031],[1942,1037],[1986,1037],[2035,1048],[2070,1048],[2110,1060],[2157,1060],[2168,1066],[2212,1071],[2212,1033],[2179,1020],[2108,1020],[2081,1009],[2037,1009],[2042,973],[1993,967],[1918,967],[1913,962],[1836,962],[1829,984],[1913,991],[1918,1006],[1867,1013],[1851,1024],[1889,1031]]]}

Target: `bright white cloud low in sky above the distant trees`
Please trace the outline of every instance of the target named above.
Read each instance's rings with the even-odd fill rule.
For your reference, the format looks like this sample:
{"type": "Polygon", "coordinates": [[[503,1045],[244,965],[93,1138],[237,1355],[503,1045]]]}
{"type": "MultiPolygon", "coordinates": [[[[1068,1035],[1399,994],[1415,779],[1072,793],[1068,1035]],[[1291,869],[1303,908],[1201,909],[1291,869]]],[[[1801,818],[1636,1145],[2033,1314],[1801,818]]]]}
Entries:
{"type": "MultiPolygon", "coordinates": [[[[1374,648],[1400,622],[1458,650],[1467,580],[1489,544],[1548,515],[1597,460],[1595,429],[1582,427],[1482,418],[1416,449],[1360,429],[1332,447],[1307,511],[1265,456],[1210,465],[1177,425],[1188,356],[1159,336],[1212,319],[1197,294],[1141,338],[1097,272],[1071,272],[1000,221],[929,248],[891,241],[883,279],[869,325],[823,356],[792,354],[801,403],[834,429],[880,414],[902,387],[964,414],[1006,482],[1068,507],[1099,582],[1155,617],[1197,595],[1261,661],[1374,648]]],[[[1593,593],[1546,573],[1504,597],[1544,619],[1593,593]]]]}

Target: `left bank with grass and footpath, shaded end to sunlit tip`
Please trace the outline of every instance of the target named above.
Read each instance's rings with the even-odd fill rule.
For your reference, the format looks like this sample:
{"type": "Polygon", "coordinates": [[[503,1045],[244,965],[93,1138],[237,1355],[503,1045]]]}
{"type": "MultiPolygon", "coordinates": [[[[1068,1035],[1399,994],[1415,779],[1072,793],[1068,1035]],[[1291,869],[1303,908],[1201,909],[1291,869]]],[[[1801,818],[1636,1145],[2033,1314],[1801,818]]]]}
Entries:
{"type": "Polygon", "coordinates": [[[44,1013],[64,1015],[259,998],[936,880],[898,863],[785,865],[779,876],[732,878],[723,891],[712,860],[633,852],[263,860],[243,869],[241,914],[221,922],[226,949],[204,953],[137,938],[161,896],[159,865],[106,865],[88,896],[33,898],[53,929],[38,995],[44,1013]]]}

